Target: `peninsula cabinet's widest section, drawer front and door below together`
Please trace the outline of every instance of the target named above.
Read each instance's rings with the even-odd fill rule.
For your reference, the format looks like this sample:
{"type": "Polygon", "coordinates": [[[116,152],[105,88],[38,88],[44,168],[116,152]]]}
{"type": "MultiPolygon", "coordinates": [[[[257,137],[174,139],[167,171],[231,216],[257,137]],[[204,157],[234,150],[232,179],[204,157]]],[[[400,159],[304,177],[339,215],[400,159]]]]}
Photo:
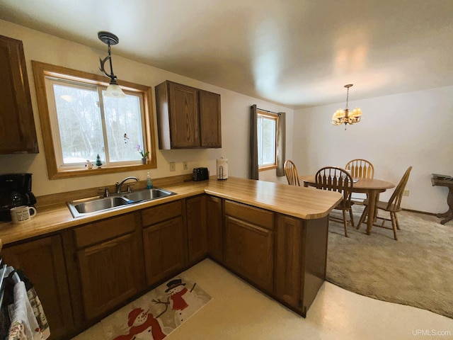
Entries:
{"type": "Polygon", "coordinates": [[[226,201],[225,215],[226,266],[272,292],[274,233],[268,227],[273,227],[273,212],[226,201]]]}

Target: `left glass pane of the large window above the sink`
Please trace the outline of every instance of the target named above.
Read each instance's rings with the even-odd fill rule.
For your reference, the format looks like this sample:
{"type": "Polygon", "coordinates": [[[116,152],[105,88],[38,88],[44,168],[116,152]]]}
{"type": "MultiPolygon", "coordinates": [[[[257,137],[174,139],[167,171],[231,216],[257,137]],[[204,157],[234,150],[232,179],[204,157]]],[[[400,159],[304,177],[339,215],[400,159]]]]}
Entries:
{"type": "Polygon", "coordinates": [[[53,85],[63,164],[95,160],[103,153],[101,112],[95,88],[53,85]]]}

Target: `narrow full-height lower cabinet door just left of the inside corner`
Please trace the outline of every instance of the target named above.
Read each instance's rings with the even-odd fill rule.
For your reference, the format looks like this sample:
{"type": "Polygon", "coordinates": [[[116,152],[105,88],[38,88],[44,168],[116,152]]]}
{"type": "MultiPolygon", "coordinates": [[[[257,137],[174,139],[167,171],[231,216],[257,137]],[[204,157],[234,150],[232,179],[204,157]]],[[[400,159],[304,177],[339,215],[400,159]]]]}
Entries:
{"type": "Polygon", "coordinates": [[[185,201],[189,262],[195,263],[207,254],[206,196],[185,201]]]}

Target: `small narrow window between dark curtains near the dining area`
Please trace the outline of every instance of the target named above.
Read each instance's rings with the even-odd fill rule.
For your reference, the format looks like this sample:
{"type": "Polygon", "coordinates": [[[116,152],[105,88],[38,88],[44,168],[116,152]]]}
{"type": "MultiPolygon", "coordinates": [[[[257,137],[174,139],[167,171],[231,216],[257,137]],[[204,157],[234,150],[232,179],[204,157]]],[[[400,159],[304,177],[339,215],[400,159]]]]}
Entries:
{"type": "Polygon", "coordinates": [[[275,169],[277,166],[278,115],[257,110],[258,169],[275,169]]]}

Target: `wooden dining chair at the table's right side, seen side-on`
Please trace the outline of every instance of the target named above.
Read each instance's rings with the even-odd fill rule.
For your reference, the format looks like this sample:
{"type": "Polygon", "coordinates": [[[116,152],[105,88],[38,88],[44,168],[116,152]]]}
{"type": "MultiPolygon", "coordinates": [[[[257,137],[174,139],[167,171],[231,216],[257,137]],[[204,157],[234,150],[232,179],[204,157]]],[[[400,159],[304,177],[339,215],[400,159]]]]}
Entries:
{"type": "MultiPolygon", "coordinates": [[[[390,213],[390,219],[384,217],[377,217],[377,219],[382,220],[382,224],[373,223],[374,226],[384,228],[384,229],[393,229],[394,239],[398,240],[396,236],[396,229],[399,229],[398,217],[396,217],[396,212],[401,211],[401,200],[403,199],[404,188],[408,183],[409,175],[411,174],[412,166],[409,166],[406,172],[403,175],[401,181],[399,181],[398,186],[396,186],[394,193],[391,195],[391,198],[388,202],[377,201],[376,208],[377,210],[384,210],[390,213]],[[391,227],[384,226],[385,221],[391,221],[391,227]]],[[[362,216],[360,216],[359,223],[357,224],[357,229],[360,228],[362,222],[365,221],[365,217],[368,215],[369,202],[365,200],[365,210],[363,210],[362,216]]],[[[375,215],[376,216],[376,215],[375,215]]]]}

